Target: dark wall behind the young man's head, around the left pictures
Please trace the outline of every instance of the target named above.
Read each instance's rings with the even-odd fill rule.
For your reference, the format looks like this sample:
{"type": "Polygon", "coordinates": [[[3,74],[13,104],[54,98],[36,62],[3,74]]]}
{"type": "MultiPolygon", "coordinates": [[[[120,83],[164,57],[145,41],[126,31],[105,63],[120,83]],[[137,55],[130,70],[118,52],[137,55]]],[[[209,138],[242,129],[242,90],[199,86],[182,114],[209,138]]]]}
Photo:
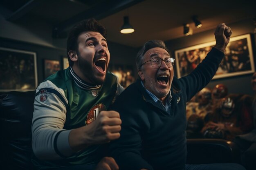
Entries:
{"type": "MultiPolygon", "coordinates": [[[[62,59],[66,57],[66,49],[52,48],[18,40],[0,38],[0,47],[36,52],[38,83],[44,79],[44,59],[59,60],[63,66],[62,59]]],[[[108,42],[110,51],[110,64],[132,65],[135,70],[136,49],[117,43],[108,42]]]]}

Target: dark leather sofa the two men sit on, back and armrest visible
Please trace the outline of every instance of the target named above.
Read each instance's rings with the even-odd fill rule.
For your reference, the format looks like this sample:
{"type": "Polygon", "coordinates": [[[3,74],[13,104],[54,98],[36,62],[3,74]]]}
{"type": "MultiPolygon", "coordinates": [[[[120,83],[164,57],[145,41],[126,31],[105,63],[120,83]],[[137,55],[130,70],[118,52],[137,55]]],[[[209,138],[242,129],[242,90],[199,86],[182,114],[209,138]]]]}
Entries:
{"type": "MultiPolygon", "coordinates": [[[[0,93],[0,169],[32,170],[31,120],[35,91],[0,93]]],[[[240,163],[236,145],[221,139],[188,139],[187,163],[240,163]]]]}

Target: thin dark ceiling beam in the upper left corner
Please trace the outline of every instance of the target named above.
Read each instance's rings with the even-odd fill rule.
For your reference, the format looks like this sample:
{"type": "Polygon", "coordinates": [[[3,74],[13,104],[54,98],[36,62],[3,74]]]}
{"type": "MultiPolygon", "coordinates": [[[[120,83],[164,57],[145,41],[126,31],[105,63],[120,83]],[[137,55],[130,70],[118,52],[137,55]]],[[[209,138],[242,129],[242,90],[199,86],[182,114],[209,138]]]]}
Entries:
{"type": "Polygon", "coordinates": [[[30,0],[25,5],[20,7],[18,10],[13,12],[9,17],[6,18],[7,21],[16,21],[22,16],[24,16],[26,13],[28,13],[32,8],[36,7],[38,4],[43,2],[44,0],[30,0]]]}

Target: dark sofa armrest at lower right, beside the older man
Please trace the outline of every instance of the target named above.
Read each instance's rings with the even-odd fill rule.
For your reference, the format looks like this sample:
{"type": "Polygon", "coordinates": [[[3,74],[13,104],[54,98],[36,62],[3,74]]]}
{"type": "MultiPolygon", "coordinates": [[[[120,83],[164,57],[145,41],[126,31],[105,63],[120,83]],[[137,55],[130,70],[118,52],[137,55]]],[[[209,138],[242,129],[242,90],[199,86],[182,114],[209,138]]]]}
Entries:
{"type": "Polygon", "coordinates": [[[188,164],[240,163],[240,152],[234,142],[223,139],[187,139],[188,164]]]}

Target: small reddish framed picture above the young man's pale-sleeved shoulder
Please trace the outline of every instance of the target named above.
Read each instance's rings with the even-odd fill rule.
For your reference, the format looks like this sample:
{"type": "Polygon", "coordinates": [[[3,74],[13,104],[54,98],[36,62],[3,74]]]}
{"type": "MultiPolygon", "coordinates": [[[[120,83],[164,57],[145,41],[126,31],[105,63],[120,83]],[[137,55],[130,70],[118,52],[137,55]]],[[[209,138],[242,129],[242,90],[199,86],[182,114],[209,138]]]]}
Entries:
{"type": "Polygon", "coordinates": [[[44,76],[45,78],[61,70],[61,64],[59,60],[44,60],[44,76]]]}

